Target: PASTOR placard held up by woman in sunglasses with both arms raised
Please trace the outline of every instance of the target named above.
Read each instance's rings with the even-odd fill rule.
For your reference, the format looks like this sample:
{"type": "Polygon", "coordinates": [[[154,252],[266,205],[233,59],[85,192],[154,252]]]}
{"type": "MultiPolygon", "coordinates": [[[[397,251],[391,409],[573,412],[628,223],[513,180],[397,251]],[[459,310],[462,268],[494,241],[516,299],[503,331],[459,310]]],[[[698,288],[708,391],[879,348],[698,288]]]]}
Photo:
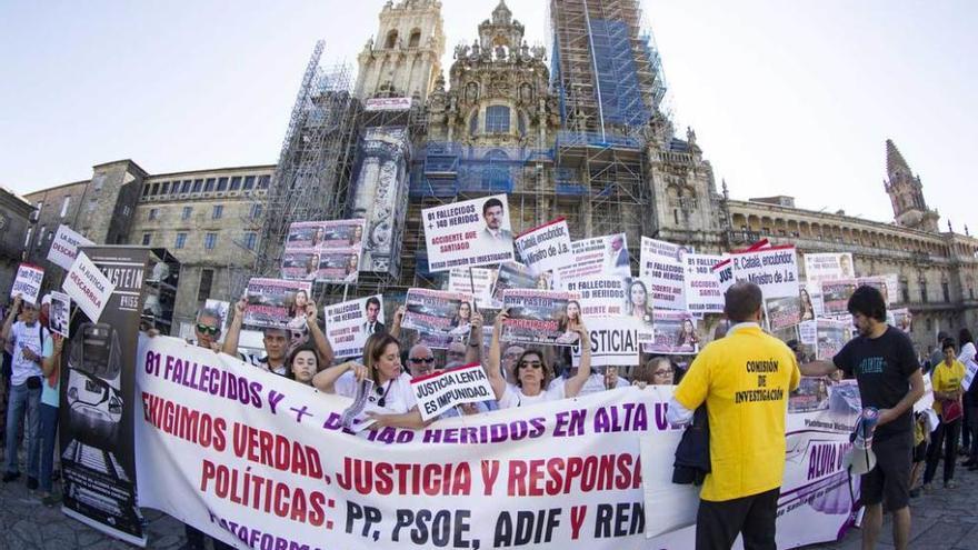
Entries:
{"type": "Polygon", "coordinates": [[[578,334],[570,331],[568,309],[580,304],[577,294],[559,290],[510,289],[502,294],[509,319],[502,323],[507,342],[570,346],[578,334]]]}

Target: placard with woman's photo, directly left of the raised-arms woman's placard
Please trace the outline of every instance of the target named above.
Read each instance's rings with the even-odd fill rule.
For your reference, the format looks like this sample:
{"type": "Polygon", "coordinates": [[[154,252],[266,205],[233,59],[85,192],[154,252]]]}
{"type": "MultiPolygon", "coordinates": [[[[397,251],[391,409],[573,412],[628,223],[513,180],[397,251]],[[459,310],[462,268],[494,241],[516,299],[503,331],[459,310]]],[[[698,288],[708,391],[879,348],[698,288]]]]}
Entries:
{"type": "Polygon", "coordinates": [[[426,340],[438,349],[471,331],[472,294],[443,290],[408,289],[402,327],[435,337],[426,340]]]}

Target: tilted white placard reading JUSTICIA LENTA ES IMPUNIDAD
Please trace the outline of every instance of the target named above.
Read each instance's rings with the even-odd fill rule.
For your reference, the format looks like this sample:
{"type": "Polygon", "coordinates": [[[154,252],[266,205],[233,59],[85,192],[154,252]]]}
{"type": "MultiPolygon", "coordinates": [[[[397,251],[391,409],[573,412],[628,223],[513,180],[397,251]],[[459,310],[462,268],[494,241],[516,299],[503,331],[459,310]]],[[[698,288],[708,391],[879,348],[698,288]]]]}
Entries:
{"type": "Polygon", "coordinates": [[[418,411],[425,420],[437,418],[455,406],[496,399],[480,363],[432,372],[411,380],[418,411]]]}

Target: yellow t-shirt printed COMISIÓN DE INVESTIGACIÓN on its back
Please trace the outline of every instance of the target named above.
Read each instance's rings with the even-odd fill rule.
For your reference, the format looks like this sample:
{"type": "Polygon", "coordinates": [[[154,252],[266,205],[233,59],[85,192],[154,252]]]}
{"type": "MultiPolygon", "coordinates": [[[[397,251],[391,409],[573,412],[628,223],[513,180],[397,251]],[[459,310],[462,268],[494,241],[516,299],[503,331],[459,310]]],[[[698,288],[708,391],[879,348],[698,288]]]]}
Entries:
{"type": "Polygon", "coordinates": [[[676,389],[689,410],[706,402],[711,472],[700,498],[725,501],[781,486],[788,392],[801,372],[782,341],[754,326],[707,346],[676,389]]]}

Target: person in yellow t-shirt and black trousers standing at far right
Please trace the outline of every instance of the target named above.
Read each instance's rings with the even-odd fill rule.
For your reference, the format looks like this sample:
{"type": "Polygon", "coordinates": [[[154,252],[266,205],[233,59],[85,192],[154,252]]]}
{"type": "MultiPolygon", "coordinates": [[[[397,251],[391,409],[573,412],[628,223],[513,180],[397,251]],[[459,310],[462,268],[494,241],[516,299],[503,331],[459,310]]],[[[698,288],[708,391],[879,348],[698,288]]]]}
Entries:
{"type": "Polygon", "coordinates": [[[965,379],[965,364],[958,361],[955,341],[946,339],[941,344],[944,361],[930,371],[930,383],[934,387],[934,410],[940,414],[940,423],[930,434],[930,447],[927,449],[927,468],[924,470],[924,490],[930,489],[937,462],[940,460],[940,448],[944,446],[944,487],[955,488],[955,462],[958,458],[958,434],[961,432],[961,416],[948,419],[945,407],[957,402],[960,410],[965,379]]]}

